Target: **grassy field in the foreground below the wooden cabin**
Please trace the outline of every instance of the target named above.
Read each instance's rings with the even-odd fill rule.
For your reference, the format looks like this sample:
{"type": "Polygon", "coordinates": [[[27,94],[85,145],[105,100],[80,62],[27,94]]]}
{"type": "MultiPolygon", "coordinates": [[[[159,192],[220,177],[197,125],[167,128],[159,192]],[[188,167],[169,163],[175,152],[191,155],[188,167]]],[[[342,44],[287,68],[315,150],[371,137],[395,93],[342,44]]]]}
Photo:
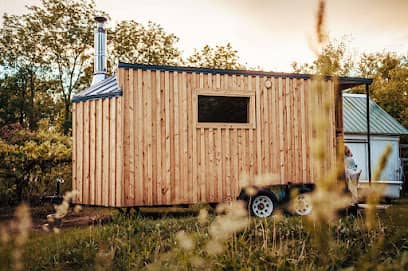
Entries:
{"type": "MultiPolygon", "coordinates": [[[[132,217],[86,208],[83,215],[112,213],[112,221],[56,232],[34,229],[24,242],[19,230],[6,233],[2,227],[0,269],[408,270],[407,198],[379,212],[370,230],[363,213],[325,226],[302,217],[245,215],[234,230],[243,220],[206,216],[198,212],[202,207],[150,209],[132,217]]],[[[45,211],[36,208],[32,215],[45,211]]]]}

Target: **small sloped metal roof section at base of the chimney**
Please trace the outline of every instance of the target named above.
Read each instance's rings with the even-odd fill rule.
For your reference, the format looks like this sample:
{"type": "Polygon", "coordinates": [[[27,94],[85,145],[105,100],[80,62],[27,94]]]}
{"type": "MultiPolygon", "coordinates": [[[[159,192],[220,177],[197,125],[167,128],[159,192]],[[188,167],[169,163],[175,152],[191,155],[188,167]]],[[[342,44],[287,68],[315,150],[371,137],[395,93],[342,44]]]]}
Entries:
{"type": "Polygon", "coordinates": [[[111,76],[72,97],[72,102],[122,96],[116,76],[111,76]]]}

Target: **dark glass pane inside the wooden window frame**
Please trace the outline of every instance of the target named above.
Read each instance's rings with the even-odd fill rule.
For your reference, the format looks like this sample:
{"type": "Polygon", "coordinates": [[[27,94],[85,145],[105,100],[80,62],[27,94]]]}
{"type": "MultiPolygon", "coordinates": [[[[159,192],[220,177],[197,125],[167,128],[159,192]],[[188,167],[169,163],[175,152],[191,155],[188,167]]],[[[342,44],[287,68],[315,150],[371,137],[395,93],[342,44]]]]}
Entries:
{"type": "Polygon", "coordinates": [[[198,122],[248,123],[249,97],[198,95],[198,122]]]}

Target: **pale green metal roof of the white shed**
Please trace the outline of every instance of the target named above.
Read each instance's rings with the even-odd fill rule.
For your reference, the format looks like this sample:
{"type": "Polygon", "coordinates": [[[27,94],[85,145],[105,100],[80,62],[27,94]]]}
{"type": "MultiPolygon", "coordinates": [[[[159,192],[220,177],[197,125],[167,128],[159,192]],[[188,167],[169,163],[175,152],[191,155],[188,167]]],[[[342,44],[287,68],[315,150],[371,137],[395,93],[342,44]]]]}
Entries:
{"type": "MultiPolygon", "coordinates": [[[[343,94],[345,134],[366,134],[366,95],[343,94]]],[[[408,130],[370,99],[370,134],[402,135],[408,130]]]]}

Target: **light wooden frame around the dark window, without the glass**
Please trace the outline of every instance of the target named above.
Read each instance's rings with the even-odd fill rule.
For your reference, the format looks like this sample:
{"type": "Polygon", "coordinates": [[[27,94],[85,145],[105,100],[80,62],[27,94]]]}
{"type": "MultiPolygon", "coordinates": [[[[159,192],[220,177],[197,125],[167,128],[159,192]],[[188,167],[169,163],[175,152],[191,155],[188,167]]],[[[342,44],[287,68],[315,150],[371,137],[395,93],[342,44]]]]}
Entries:
{"type": "Polygon", "coordinates": [[[255,129],[255,91],[233,90],[233,89],[195,89],[193,94],[193,113],[195,128],[228,128],[228,129],[255,129]],[[199,122],[198,121],[198,96],[220,96],[220,97],[244,97],[249,98],[248,122],[199,122]]]}

